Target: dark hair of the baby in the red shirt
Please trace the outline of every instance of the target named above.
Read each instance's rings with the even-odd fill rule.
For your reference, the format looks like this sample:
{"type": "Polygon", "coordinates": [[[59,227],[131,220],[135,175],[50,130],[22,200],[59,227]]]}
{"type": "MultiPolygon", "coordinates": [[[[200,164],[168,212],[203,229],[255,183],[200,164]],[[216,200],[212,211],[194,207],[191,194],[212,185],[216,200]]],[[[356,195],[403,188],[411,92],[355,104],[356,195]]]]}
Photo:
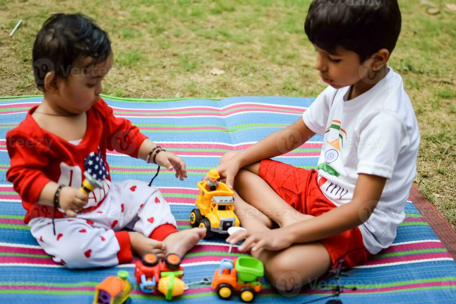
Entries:
{"type": "Polygon", "coordinates": [[[82,14],[54,14],[36,35],[32,68],[38,88],[44,89],[44,76],[54,71],[67,77],[71,65],[84,57],[91,64],[106,61],[111,53],[108,34],[82,14]]]}

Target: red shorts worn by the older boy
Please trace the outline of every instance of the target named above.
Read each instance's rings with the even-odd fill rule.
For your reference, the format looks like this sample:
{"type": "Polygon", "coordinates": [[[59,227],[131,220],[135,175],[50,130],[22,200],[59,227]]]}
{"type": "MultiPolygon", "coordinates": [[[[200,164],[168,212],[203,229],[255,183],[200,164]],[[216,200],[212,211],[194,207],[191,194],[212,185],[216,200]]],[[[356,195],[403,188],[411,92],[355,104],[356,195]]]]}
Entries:
{"type": "MultiPolygon", "coordinates": [[[[305,170],[275,160],[262,160],[259,176],[295,210],[319,216],[336,208],[318,187],[316,170],[305,170]]],[[[358,227],[320,240],[331,257],[331,269],[337,268],[343,258],[343,267],[351,268],[364,263],[372,254],[364,247],[358,227]]]]}

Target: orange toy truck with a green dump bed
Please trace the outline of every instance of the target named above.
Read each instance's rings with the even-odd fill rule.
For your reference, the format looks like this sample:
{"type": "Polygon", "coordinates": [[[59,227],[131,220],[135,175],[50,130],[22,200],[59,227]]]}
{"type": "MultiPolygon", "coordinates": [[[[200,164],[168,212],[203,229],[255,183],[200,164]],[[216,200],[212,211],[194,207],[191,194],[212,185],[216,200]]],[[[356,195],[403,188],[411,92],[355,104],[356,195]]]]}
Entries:
{"type": "Polygon", "coordinates": [[[239,257],[234,262],[224,258],[212,278],[212,289],[220,299],[228,300],[236,293],[241,301],[251,303],[261,290],[263,275],[263,263],[256,258],[239,257]]]}

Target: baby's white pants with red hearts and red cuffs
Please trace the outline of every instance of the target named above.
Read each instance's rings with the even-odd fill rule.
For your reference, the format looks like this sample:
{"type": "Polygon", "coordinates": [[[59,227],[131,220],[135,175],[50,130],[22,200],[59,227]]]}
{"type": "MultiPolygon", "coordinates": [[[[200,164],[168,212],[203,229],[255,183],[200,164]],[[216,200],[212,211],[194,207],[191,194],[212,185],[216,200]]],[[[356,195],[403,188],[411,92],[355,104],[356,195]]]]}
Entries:
{"type": "Polygon", "coordinates": [[[112,183],[102,204],[77,217],[37,217],[28,226],[44,251],[68,268],[109,267],[132,258],[128,227],[162,240],[176,232],[176,220],[160,191],[139,180],[112,183]]]}

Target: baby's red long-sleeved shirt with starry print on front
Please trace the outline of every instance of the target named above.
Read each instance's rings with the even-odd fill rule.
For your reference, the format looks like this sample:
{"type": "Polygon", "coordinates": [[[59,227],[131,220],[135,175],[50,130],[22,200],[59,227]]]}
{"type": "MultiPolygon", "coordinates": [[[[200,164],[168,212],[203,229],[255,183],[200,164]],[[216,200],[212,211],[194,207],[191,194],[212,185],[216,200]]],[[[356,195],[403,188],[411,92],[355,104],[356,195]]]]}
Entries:
{"type": "MultiPolygon", "coordinates": [[[[39,204],[40,193],[48,182],[79,188],[85,170],[96,170],[93,175],[99,172],[101,175],[98,177],[103,177],[100,179],[103,188],[90,193],[88,203],[81,212],[96,209],[111,185],[106,149],[138,157],[140,145],[147,136],[141,134],[129,120],[114,117],[113,109],[100,98],[87,111],[86,133],[82,141],[74,145],[41,129],[31,116],[36,108],[31,108],[26,118],[6,133],[6,146],[11,159],[6,179],[13,183],[14,190],[21,196],[22,206],[27,211],[24,222],[27,224],[31,218],[39,216],[52,217],[52,206],[39,204]],[[90,166],[86,163],[84,167],[86,157],[99,163],[92,164],[90,161],[90,166]]],[[[56,210],[56,218],[63,216],[64,213],[56,210]]]]}

